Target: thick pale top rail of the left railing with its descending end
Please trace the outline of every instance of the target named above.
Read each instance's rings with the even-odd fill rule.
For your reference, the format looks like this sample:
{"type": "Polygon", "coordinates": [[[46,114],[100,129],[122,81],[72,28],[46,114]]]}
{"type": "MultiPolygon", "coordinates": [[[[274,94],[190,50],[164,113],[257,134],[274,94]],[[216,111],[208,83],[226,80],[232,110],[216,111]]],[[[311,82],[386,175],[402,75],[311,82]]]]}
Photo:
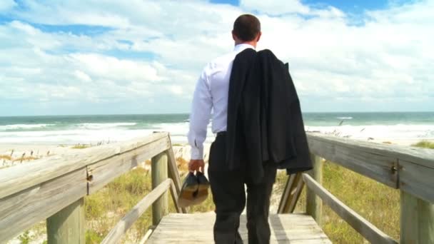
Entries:
{"type": "MultiPolygon", "coordinates": [[[[173,180],[174,188],[172,190],[178,194],[181,181],[170,137],[166,132],[2,169],[0,243],[41,220],[57,218],[59,213],[66,208],[72,208],[71,205],[79,201],[81,203],[75,204],[73,208],[77,209],[74,211],[78,214],[83,214],[78,209],[83,208],[81,199],[85,195],[94,193],[114,178],[138,166],[138,163],[160,153],[168,156],[169,176],[173,180]]],[[[181,211],[186,213],[185,209],[181,211]]],[[[63,215],[59,214],[59,218],[63,218],[63,215]]],[[[58,224],[56,221],[49,223],[58,224]]],[[[57,231],[58,228],[54,226],[54,230],[57,231]]]]}

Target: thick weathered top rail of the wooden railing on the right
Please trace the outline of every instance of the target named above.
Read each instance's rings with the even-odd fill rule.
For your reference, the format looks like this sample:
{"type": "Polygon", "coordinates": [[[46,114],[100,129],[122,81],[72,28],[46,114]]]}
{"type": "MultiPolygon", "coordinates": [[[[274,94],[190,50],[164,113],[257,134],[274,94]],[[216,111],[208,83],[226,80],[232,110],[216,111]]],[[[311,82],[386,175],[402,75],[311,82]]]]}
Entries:
{"type": "Polygon", "coordinates": [[[308,133],[313,154],[434,203],[434,150],[308,133]]]}

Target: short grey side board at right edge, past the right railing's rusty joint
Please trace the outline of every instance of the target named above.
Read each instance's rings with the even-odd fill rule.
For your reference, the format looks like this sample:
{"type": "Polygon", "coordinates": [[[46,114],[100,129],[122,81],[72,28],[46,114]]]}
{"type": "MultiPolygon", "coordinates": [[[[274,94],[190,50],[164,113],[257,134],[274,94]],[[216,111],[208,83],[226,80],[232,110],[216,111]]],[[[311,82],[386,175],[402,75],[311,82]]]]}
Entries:
{"type": "Polygon", "coordinates": [[[409,161],[399,161],[399,168],[400,189],[434,203],[434,169],[409,161]]]}

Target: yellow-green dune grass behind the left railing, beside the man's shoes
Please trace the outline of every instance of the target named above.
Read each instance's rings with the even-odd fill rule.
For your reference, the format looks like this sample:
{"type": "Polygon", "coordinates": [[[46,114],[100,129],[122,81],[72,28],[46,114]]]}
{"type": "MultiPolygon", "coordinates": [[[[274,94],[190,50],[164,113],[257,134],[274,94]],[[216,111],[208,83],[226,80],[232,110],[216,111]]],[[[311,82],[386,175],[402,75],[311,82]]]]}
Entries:
{"type": "MultiPolygon", "coordinates": [[[[177,158],[178,171],[185,171],[186,163],[188,162],[177,158]]],[[[146,161],[145,164],[149,166],[151,161],[146,161]]],[[[185,174],[183,175],[185,177],[185,174]]],[[[123,215],[151,190],[151,172],[144,168],[136,168],[87,196],[85,198],[86,243],[100,243],[123,215]]],[[[188,208],[188,213],[210,210],[214,210],[211,191],[205,202],[188,208]]],[[[176,213],[170,195],[168,195],[168,212],[176,213]]],[[[128,230],[126,239],[130,242],[138,242],[151,225],[152,212],[149,208],[128,230]]]]}

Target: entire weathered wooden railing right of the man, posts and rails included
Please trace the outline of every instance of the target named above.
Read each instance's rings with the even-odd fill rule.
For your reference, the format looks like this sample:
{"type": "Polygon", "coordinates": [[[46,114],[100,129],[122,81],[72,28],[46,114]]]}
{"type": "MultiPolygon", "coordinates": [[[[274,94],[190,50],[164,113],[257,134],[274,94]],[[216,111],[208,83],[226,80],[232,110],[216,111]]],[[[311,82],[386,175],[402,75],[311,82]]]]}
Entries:
{"type": "Polygon", "coordinates": [[[324,158],[399,189],[400,243],[434,243],[434,150],[318,133],[308,134],[308,143],[314,168],[288,178],[278,213],[293,213],[306,183],[306,213],[319,225],[322,203],[325,203],[371,243],[397,243],[321,186],[324,158]]]}

